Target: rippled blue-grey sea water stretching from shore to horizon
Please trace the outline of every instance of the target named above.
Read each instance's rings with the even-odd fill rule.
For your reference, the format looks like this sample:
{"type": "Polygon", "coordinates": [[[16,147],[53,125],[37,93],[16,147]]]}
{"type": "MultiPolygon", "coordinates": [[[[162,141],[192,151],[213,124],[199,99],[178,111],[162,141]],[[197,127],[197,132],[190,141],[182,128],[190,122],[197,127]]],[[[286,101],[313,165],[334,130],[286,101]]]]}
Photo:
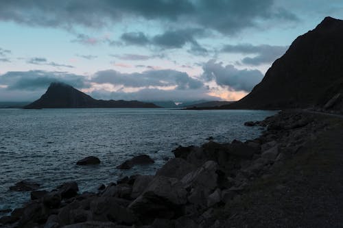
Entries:
{"type": "MultiPolygon", "coordinates": [[[[51,190],[77,181],[80,191],[96,191],[101,183],[133,174],[154,174],[178,145],[248,140],[261,134],[244,122],[275,112],[261,110],[172,109],[0,109],[0,210],[29,200],[29,192],[12,192],[14,183],[29,179],[51,190]],[[134,155],[147,154],[149,166],[118,170],[134,155]],[[97,166],[77,166],[89,155],[97,166]]],[[[1,214],[0,214],[1,216],[1,214]]]]}

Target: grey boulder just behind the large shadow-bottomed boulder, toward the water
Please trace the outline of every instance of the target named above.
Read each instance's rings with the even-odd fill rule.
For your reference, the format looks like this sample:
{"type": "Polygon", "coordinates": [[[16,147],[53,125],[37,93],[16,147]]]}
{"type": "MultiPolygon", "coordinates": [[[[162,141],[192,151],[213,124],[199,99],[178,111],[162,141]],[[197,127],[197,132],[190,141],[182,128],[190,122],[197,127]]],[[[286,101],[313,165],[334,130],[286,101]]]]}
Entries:
{"type": "Polygon", "coordinates": [[[176,157],[169,160],[164,166],[162,166],[162,168],[160,168],[156,172],[156,175],[181,179],[187,173],[190,173],[195,169],[196,166],[194,166],[193,164],[190,164],[180,157],[176,157]]]}

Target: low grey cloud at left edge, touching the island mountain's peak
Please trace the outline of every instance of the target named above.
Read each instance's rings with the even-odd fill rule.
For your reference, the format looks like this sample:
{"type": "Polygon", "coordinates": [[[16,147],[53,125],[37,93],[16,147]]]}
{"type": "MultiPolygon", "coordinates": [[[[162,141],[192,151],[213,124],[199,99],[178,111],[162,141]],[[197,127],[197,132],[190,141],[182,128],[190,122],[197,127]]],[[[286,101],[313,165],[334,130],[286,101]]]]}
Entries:
{"type": "Polygon", "coordinates": [[[0,75],[0,84],[8,86],[7,90],[41,90],[54,81],[62,81],[76,88],[89,87],[84,76],[66,72],[10,71],[0,75]]]}

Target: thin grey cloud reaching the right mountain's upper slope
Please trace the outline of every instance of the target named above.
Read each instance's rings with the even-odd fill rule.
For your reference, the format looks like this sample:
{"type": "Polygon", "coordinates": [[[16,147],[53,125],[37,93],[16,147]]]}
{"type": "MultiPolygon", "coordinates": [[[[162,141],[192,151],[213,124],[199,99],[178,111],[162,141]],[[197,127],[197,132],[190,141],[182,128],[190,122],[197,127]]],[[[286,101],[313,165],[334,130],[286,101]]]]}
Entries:
{"type": "Polygon", "coordinates": [[[244,53],[255,54],[254,57],[246,57],[241,60],[243,64],[248,65],[260,65],[270,64],[274,62],[276,58],[281,57],[287,51],[287,46],[271,46],[271,45],[226,45],[223,47],[222,52],[227,53],[244,53]]]}

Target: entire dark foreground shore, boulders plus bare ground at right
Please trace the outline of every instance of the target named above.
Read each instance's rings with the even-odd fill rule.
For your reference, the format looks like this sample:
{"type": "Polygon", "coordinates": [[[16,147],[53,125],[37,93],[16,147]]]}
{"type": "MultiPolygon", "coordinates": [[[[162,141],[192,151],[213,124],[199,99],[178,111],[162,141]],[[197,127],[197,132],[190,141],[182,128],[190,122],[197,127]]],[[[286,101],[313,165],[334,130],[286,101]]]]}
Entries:
{"type": "MultiPolygon", "coordinates": [[[[32,200],[0,218],[3,227],[338,227],[343,199],[341,116],[286,110],[259,138],[178,147],[155,175],[135,175],[79,193],[22,181],[32,200]]],[[[80,164],[98,164],[88,157],[80,164]]],[[[121,167],[149,165],[148,157],[121,167]]],[[[98,165],[101,165],[98,164],[98,165]]]]}

